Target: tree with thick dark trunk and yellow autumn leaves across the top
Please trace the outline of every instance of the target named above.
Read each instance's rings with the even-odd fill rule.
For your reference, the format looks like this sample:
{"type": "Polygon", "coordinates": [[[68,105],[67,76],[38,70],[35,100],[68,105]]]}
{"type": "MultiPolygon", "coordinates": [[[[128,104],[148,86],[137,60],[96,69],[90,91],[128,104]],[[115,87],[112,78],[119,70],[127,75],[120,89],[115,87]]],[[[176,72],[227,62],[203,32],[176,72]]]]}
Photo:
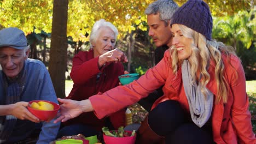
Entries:
{"type": "MultiPolygon", "coordinates": [[[[133,44],[134,40],[136,42],[137,36],[135,31],[137,29],[147,30],[144,25],[147,22],[144,9],[153,1],[2,0],[0,1],[0,27],[18,27],[26,34],[32,33],[33,30],[35,33],[44,31],[52,34],[49,71],[58,97],[63,97],[65,95],[66,38],[72,37],[74,41],[88,41],[89,37],[86,37],[86,34],[90,34],[92,25],[95,21],[104,18],[118,28],[119,39],[130,35],[130,44],[133,44]],[[54,4],[57,7],[53,8],[54,4]],[[54,22],[53,19],[56,21],[54,22]]],[[[176,2],[182,5],[186,0],[177,0],[176,2]]],[[[253,1],[206,0],[206,2],[210,6],[213,16],[225,16],[251,8],[253,1]]],[[[136,45],[136,43],[134,44],[136,45]]],[[[128,43],[126,47],[129,47],[128,43]]],[[[132,45],[130,50],[132,50],[131,47],[132,45]]]]}

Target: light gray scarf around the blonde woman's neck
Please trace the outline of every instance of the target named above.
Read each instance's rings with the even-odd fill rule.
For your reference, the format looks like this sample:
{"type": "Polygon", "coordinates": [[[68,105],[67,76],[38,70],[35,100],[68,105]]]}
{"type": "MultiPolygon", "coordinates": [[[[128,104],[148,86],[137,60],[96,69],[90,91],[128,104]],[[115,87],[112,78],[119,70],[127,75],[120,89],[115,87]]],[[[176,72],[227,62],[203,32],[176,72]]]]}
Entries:
{"type": "Polygon", "coordinates": [[[201,128],[211,117],[213,94],[206,89],[207,94],[203,95],[201,83],[199,82],[198,86],[196,83],[192,83],[190,65],[187,59],[182,63],[182,81],[192,121],[201,128]]]}

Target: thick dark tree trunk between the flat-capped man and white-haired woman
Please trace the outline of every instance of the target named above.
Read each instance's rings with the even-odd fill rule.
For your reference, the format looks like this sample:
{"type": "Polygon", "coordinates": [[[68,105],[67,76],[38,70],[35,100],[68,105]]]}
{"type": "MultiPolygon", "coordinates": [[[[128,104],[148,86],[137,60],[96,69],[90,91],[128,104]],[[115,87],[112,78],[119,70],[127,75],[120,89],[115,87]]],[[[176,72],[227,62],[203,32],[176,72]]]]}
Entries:
{"type": "Polygon", "coordinates": [[[49,73],[57,97],[65,98],[68,0],[54,0],[49,73]]]}

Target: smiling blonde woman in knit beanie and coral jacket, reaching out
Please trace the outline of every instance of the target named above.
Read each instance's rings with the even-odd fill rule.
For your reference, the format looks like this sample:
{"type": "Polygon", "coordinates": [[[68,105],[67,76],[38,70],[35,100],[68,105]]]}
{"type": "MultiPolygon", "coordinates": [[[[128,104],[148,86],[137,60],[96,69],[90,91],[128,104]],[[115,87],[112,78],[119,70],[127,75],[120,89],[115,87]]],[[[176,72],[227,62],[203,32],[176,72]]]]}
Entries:
{"type": "Polygon", "coordinates": [[[89,111],[105,117],[164,85],[137,143],[256,143],[242,64],[232,47],[212,39],[208,5],[189,0],[174,13],[171,31],[173,46],[154,68],[88,100],[59,99],[57,121],[89,111]]]}

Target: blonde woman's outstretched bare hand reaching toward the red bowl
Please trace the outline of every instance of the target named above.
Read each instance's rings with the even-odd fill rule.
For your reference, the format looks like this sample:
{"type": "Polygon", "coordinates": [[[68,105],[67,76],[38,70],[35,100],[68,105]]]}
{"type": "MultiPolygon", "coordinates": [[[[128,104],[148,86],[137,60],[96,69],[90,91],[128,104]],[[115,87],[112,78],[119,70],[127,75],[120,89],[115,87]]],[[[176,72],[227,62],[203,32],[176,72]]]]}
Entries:
{"type": "Polygon", "coordinates": [[[93,111],[91,102],[86,99],[82,101],[76,101],[71,99],[60,99],[58,98],[60,103],[60,117],[58,117],[54,123],[59,121],[66,122],[68,119],[79,116],[83,112],[93,111]]]}

